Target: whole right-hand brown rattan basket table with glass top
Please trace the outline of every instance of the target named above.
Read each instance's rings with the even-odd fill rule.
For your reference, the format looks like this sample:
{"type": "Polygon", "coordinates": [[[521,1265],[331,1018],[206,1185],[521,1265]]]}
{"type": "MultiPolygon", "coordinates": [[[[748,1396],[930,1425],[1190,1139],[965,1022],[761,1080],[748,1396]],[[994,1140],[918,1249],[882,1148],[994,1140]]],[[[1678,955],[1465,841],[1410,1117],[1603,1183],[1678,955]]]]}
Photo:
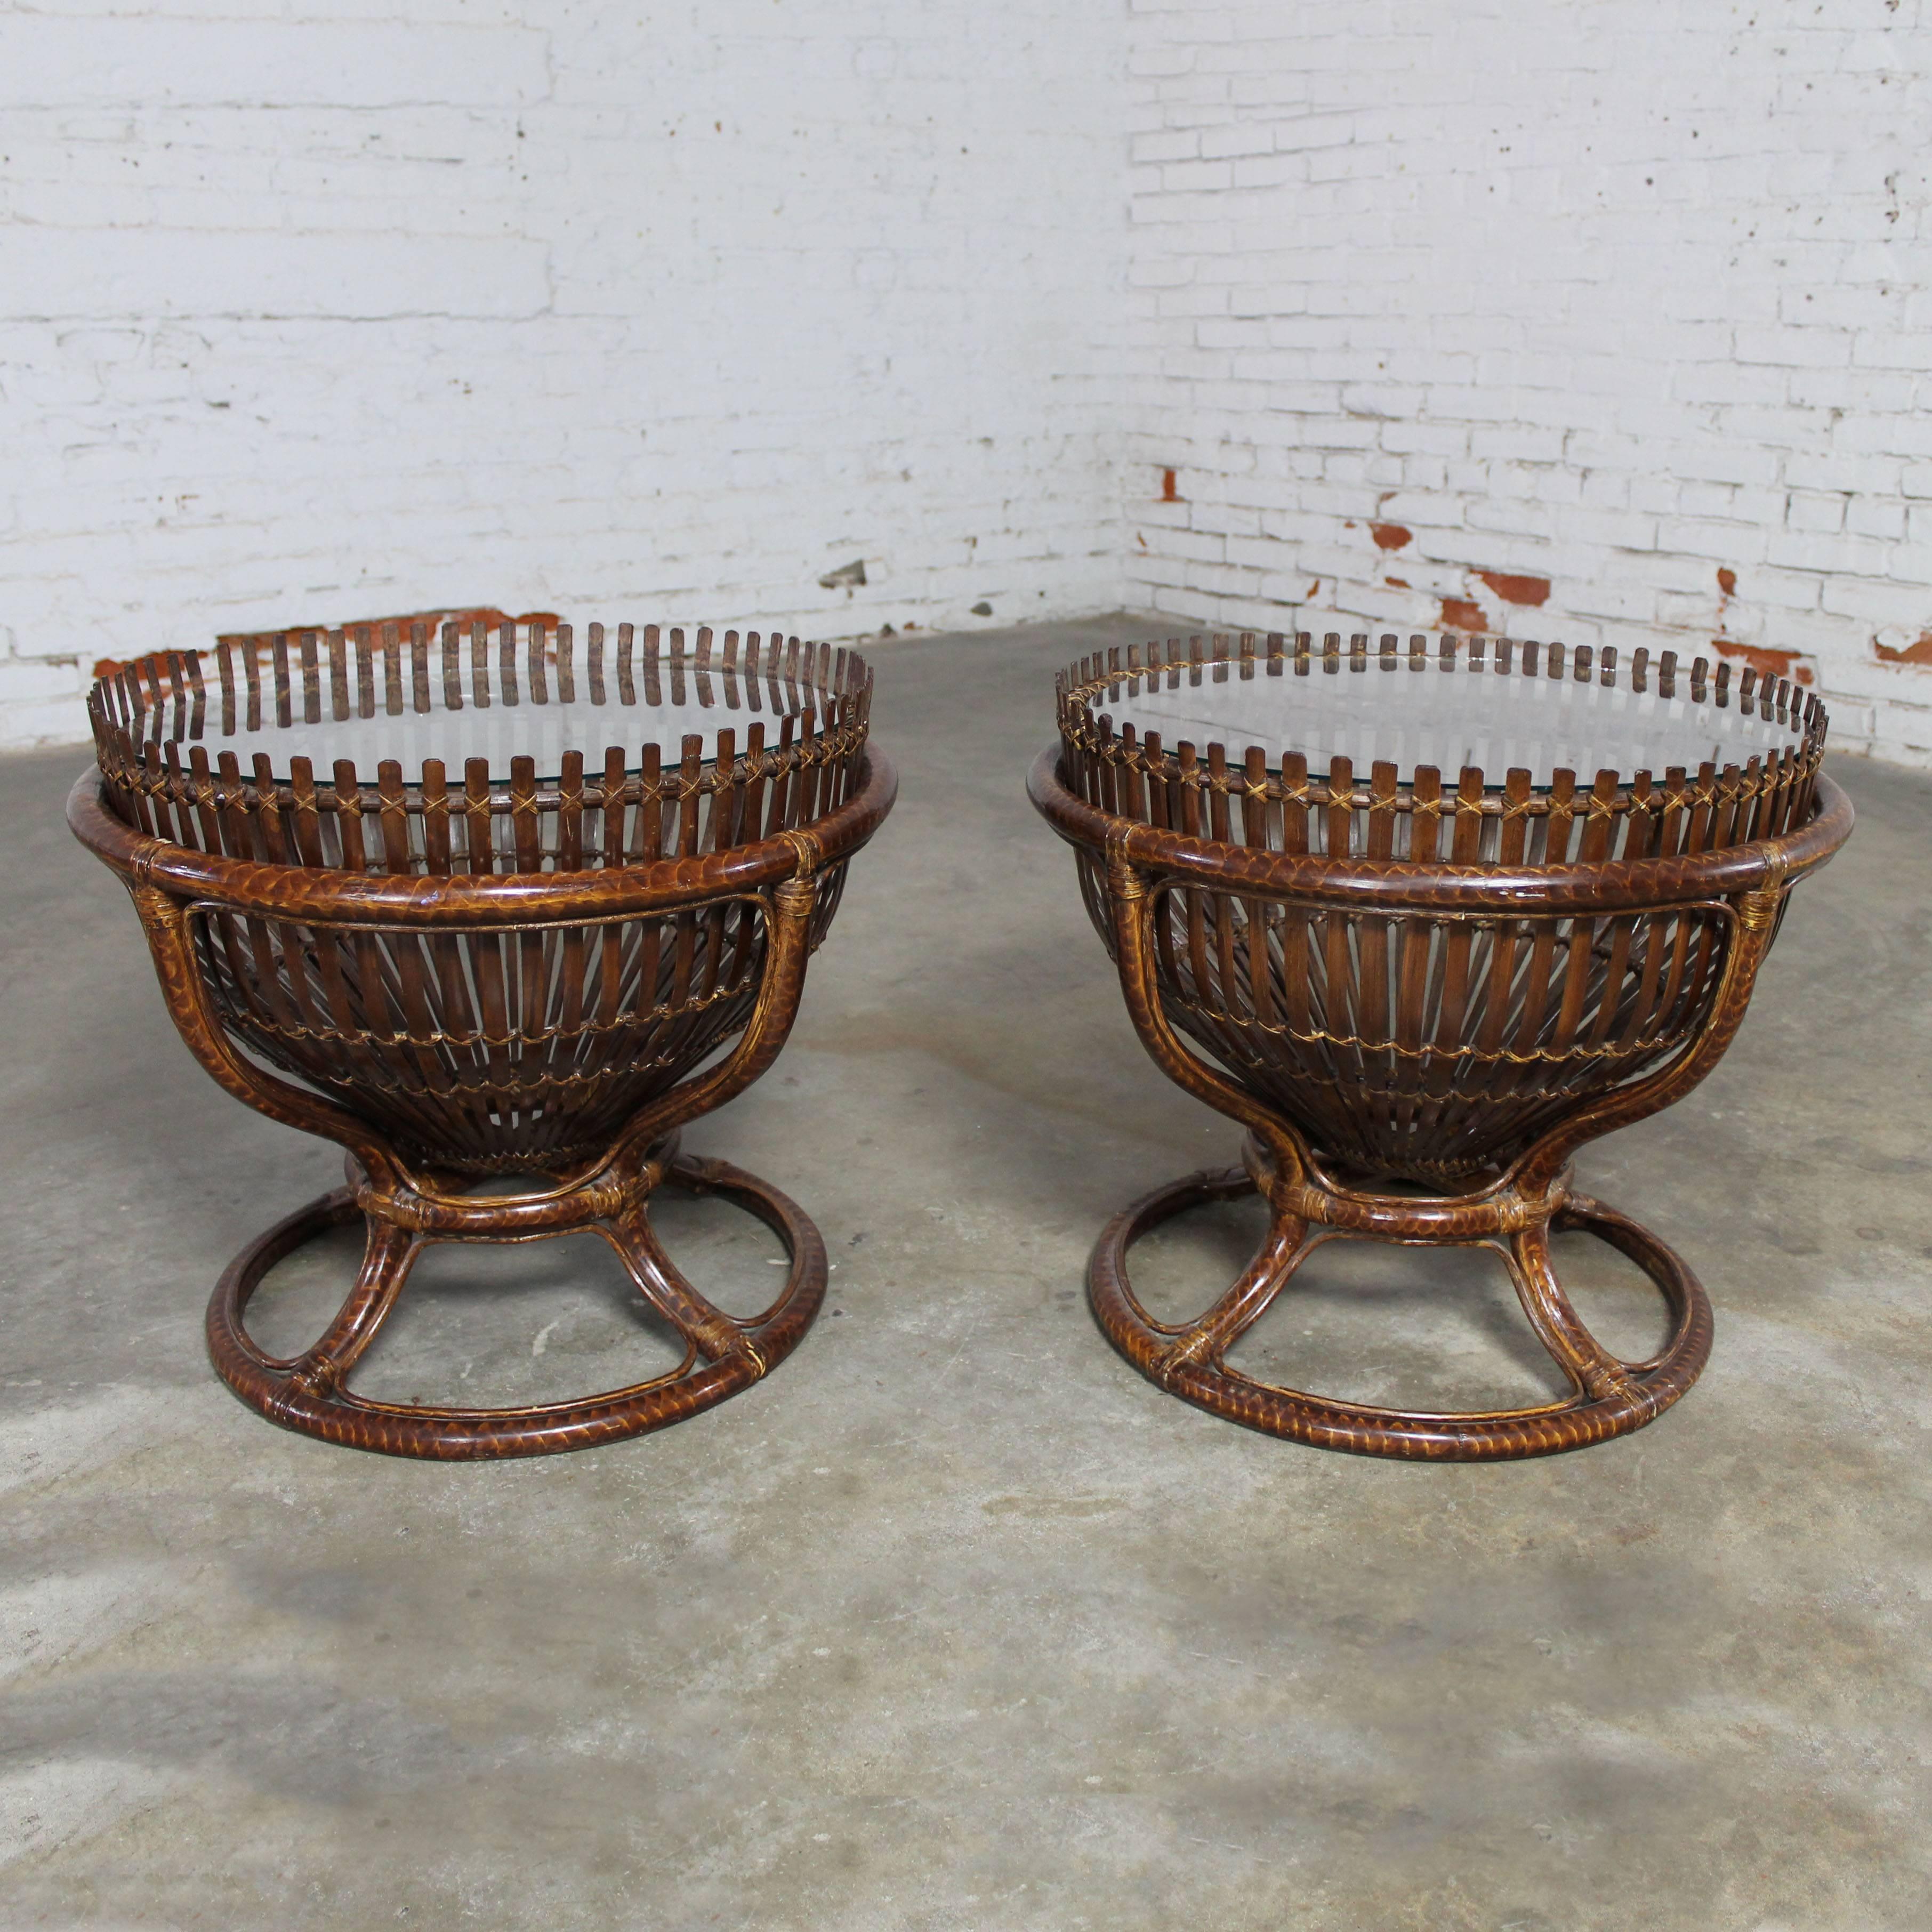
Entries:
{"type": "Polygon", "coordinates": [[[1034,804],[1074,846],[1148,1051],[1248,1130],[1242,1167],[1101,1235],[1088,1293],[1115,1347],[1202,1408],[1366,1455],[1544,1455],[1677,1401],[1710,1352],[1706,1294],[1577,1190],[1571,1155],[1710,1072],[1793,883],[1849,837],[1818,699],[1673,653],[1619,676],[1609,649],[1306,634],[1113,651],[1057,692],[1034,804]],[[1250,1265],[1200,1320],[1150,1320],[1130,1244],[1250,1190],[1271,1209],[1250,1265]],[[1577,1318],[1561,1229],[1663,1293],[1656,1356],[1619,1360],[1577,1318]],[[1231,1368],[1337,1236],[1497,1250],[1571,1395],[1437,1414],[1231,1368]]]}

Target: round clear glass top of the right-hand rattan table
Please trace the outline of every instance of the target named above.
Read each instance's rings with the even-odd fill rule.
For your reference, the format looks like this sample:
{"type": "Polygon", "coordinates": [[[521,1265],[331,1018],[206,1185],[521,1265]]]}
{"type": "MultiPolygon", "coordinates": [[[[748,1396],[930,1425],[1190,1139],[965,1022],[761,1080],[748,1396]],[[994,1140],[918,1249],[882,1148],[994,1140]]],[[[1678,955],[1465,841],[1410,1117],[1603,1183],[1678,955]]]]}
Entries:
{"type": "Polygon", "coordinates": [[[1408,659],[1393,667],[1378,657],[1273,659],[1254,663],[1246,676],[1238,661],[1200,670],[1182,665],[1090,686],[1086,705],[1095,717],[1109,715],[1115,730],[1159,732],[1167,750],[1221,744],[1238,761],[1258,744],[1271,767],[1283,752],[1300,752],[1310,771],[1325,771],[1335,757],[1350,759],[1356,771],[1387,759],[1403,773],[1434,765],[1451,779],[1474,765],[1492,784],[1526,769],[1536,786],[1551,784],[1557,771],[1588,781],[1605,769],[1660,775],[1673,765],[1694,773],[1706,759],[1719,769],[1745,765],[1799,736],[1735,703],[1466,663],[1443,670],[1435,659],[1420,668],[1408,659]]]}

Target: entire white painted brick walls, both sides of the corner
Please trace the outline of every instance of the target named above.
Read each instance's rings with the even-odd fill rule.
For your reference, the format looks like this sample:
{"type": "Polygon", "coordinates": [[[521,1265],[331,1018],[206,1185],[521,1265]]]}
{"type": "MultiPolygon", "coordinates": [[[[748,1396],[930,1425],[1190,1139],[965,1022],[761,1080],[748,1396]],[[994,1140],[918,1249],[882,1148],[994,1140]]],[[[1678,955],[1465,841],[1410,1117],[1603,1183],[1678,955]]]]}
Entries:
{"type": "Polygon", "coordinates": [[[0,12],[0,744],[319,616],[1130,603],[1932,763],[1928,4],[0,12]]]}

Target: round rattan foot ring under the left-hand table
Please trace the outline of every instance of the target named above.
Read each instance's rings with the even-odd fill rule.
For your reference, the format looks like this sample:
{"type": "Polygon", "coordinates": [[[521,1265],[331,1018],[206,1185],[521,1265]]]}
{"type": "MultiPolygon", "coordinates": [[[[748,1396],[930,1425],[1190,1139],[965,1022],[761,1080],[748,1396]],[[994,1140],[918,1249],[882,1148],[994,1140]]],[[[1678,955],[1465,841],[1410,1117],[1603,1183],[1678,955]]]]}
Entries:
{"type": "MultiPolygon", "coordinates": [[[[553,1455],[682,1422],[738,1395],[798,1347],[825,1300],[829,1271],[817,1227],[796,1202],[755,1175],[726,1161],[686,1155],[670,1163],[665,1179],[699,1194],[723,1194],[763,1221],[790,1256],[784,1287],[763,1314],[748,1321],[717,1316],[715,1329],[686,1335],[684,1362],[668,1376],[605,1395],[526,1408],[444,1408],[377,1403],[355,1395],[346,1387],[348,1374],[394,1308],[415,1256],[427,1246],[423,1236],[412,1238],[373,1217],[355,1289],[323,1341],[303,1356],[265,1354],[243,1327],[249,1298],[263,1275],[303,1242],[330,1227],[363,1219],[350,1188],[336,1188],[309,1202],[236,1256],[209,1302],[209,1354],[222,1381],[270,1422],[381,1455],[433,1461],[553,1455]]],[[[663,1285],[661,1271],[686,1287],[649,1235],[645,1204],[639,1202],[620,1219],[587,1225],[616,1248],[651,1300],[657,1294],[651,1294],[647,1281],[663,1285]]],[[[709,1310],[709,1304],[701,1306],[709,1310]]]]}

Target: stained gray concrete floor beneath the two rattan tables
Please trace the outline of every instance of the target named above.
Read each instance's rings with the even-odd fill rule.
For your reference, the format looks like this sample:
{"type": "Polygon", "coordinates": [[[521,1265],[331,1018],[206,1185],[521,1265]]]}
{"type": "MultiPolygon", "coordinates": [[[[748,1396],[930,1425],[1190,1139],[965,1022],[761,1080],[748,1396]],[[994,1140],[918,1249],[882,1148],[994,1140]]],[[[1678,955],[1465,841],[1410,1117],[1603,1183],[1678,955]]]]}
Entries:
{"type": "MultiPolygon", "coordinates": [[[[817,1217],[827,1312],[707,1416],[502,1466],[214,1379],[209,1287],[336,1155],[174,1037],[60,821],[79,755],[0,761],[0,1924],[1932,1924],[1932,781],[1833,767],[1859,833],[1729,1057],[1584,1153],[1712,1293],[1698,1387],[1542,1463],[1323,1455],[1159,1395],[1082,1298],[1117,1206],[1236,1146],[1022,794],[1051,667],[1138,636],[879,653],[898,813],[777,1072],[688,1136],[817,1217]]],[[[1150,1242],[1150,1296],[1202,1306],[1250,1223],[1150,1242]]],[[[757,1304],[761,1231],[665,1225],[757,1304]]],[[[1609,1337],[1654,1333],[1577,1242],[1609,1337]]],[[[1449,1262],[1350,1250],[1262,1366],[1534,1391],[1507,1287],[1449,1262]]],[[[265,1337],[350,1267],[288,1264],[265,1337]]],[[[539,1399],[657,1349],[587,1240],[444,1252],[367,1383],[539,1399]]]]}

